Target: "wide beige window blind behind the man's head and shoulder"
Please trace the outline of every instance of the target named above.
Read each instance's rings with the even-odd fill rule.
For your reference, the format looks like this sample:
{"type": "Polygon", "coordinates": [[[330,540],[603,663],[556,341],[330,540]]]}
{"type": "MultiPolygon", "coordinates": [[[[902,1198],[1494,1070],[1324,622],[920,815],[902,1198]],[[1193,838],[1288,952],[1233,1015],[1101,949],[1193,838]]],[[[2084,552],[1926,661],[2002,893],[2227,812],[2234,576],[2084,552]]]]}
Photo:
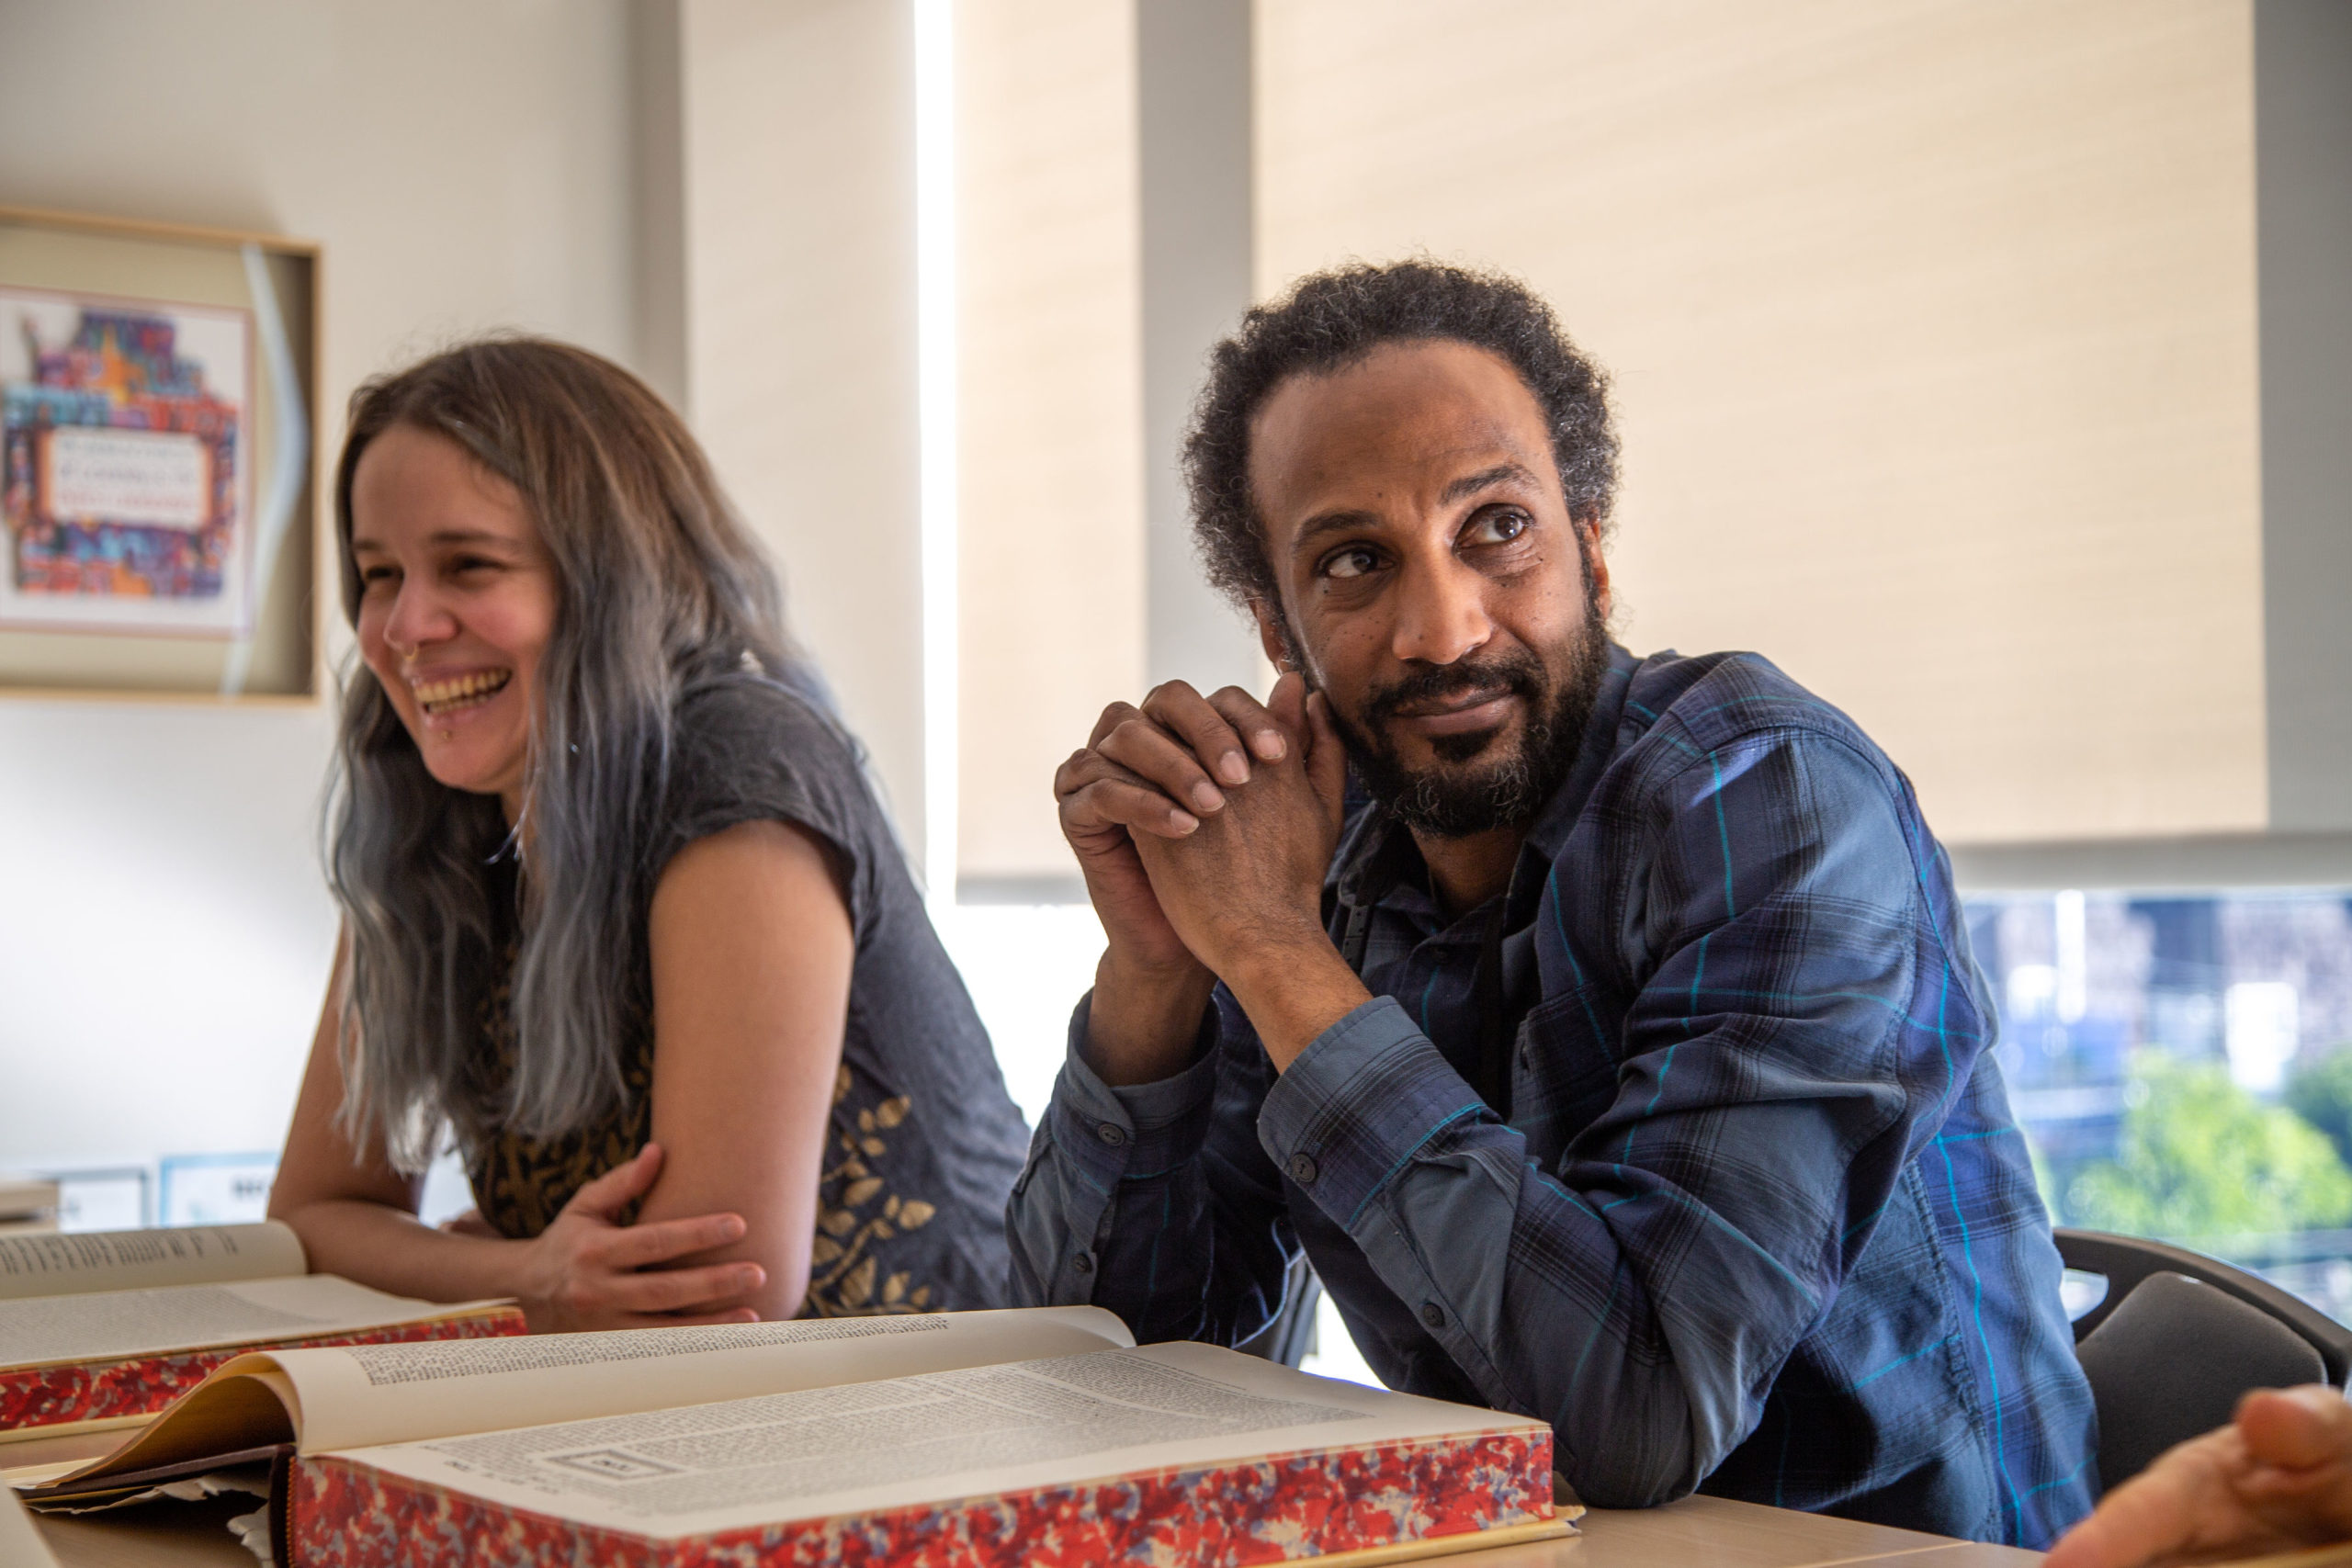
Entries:
{"type": "Polygon", "coordinates": [[[1261,0],[1258,282],[1425,247],[1618,388],[1635,649],[1959,842],[2265,823],[2244,0],[1261,0]]]}

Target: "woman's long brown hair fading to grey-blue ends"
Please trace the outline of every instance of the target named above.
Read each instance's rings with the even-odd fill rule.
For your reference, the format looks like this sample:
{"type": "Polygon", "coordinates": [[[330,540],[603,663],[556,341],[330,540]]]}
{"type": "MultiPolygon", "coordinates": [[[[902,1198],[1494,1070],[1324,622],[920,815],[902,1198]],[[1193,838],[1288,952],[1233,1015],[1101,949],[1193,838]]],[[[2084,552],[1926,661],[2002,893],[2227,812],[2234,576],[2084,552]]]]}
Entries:
{"type": "MultiPolygon", "coordinates": [[[[348,929],[343,1107],[355,1147],[421,1171],[440,1128],[579,1128],[621,1103],[619,1048],[649,1006],[647,849],[668,788],[680,691],[746,656],[783,677],[781,592],[710,463],[621,367],[546,339],[489,339],[362,386],[334,477],[343,616],[358,623],[350,484],[369,442],[412,425],[513,484],[555,557],[524,762],[529,865],[513,973],[517,1065],[482,1095],[482,976],[503,961],[492,795],[437,783],[376,675],[343,691],[327,882],[348,929]]],[[[642,1023],[637,1025],[642,1027],[642,1023]]]]}

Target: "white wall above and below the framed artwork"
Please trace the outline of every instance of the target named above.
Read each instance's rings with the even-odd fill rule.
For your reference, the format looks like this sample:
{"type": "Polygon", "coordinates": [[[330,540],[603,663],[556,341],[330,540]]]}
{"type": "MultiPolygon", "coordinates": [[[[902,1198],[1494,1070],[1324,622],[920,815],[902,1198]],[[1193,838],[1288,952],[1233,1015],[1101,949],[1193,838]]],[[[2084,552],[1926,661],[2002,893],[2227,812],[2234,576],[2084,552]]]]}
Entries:
{"type": "MultiPolygon", "coordinates": [[[[5,0],[0,202],[325,244],[320,451],[487,327],[633,355],[623,0],[5,0]]],[[[334,940],[329,717],[0,698],[0,1168],[266,1150],[334,940]]]]}

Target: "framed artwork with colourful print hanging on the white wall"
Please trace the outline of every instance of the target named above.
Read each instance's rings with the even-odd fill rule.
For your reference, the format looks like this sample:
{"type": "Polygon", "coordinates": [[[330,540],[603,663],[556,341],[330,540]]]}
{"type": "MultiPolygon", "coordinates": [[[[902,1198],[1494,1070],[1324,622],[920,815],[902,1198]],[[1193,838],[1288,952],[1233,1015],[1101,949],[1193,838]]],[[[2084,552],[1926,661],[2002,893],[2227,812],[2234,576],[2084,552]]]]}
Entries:
{"type": "Polygon", "coordinates": [[[0,696],[315,701],[318,270],[0,207],[0,696]]]}

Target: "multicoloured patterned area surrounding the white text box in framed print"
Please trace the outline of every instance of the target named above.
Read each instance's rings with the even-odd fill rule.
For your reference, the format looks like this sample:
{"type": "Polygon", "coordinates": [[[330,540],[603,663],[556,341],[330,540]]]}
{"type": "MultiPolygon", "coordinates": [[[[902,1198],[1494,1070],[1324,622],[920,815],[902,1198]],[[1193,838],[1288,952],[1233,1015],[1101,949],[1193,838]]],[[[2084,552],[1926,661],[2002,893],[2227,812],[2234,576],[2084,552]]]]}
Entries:
{"type": "Polygon", "coordinates": [[[240,407],[207,388],[205,367],[179,353],[169,315],[85,306],[61,348],[33,341],[28,320],[19,331],[33,378],[0,388],[16,592],[219,599],[240,527],[240,407]],[[59,515],[59,430],[193,437],[205,491],[193,527],[59,515]]]}

